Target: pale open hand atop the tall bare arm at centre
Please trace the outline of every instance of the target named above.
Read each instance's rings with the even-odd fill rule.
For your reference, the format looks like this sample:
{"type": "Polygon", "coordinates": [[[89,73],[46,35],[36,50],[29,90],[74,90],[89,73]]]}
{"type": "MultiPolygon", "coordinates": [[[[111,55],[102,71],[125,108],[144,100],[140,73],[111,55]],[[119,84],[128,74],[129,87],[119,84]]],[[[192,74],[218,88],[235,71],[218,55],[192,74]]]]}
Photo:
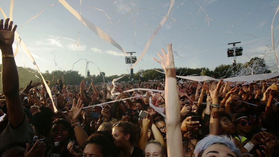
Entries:
{"type": "Polygon", "coordinates": [[[157,53],[158,56],[162,59],[162,60],[158,60],[155,57],[153,57],[153,59],[155,61],[157,61],[158,63],[161,64],[162,68],[164,70],[166,69],[170,69],[170,68],[175,68],[174,66],[174,55],[172,53],[172,43],[167,45],[168,48],[168,54],[166,54],[165,50],[162,48],[161,51],[163,53],[164,56],[162,56],[159,52],[157,53]]]}

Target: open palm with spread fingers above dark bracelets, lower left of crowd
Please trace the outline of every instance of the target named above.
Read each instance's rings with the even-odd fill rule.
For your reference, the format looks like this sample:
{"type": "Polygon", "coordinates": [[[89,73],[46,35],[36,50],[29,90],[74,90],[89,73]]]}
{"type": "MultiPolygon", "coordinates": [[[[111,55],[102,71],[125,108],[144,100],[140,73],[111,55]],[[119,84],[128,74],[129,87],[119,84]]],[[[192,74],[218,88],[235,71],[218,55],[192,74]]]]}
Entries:
{"type": "Polygon", "coordinates": [[[84,104],[82,104],[82,100],[79,98],[77,100],[77,104],[75,103],[75,99],[73,100],[73,106],[72,106],[71,110],[69,110],[68,107],[65,107],[67,110],[67,115],[71,119],[72,122],[77,120],[77,118],[83,108],[83,105],[84,104]]]}

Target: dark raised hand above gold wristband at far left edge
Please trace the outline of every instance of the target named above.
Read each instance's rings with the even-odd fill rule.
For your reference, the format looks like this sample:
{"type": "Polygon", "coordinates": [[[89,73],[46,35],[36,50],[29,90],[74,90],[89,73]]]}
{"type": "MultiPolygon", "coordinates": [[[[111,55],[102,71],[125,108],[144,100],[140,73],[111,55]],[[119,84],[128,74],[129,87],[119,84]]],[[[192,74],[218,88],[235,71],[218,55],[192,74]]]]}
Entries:
{"type": "Polygon", "coordinates": [[[3,19],[0,20],[0,47],[12,46],[15,39],[15,30],[17,29],[17,25],[13,27],[13,21],[11,21],[9,25],[9,18],[6,19],[5,25],[3,25],[3,21],[3,19]]]}

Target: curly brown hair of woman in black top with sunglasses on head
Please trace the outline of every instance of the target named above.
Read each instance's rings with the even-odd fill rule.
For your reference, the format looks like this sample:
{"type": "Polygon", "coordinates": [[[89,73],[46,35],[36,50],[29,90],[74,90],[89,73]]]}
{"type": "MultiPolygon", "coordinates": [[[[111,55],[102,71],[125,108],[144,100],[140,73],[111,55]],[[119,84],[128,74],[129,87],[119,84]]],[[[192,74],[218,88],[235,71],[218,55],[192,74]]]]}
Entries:
{"type": "Polygon", "coordinates": [[[131,144],[135,144],[137,142],[137,138],[139,137],[139,130],[135,126],[135,124],[131,122],[120,121],[114,123],[112,128],[118,128],[123,134],[130,134],[129,141],[131,144]]]}

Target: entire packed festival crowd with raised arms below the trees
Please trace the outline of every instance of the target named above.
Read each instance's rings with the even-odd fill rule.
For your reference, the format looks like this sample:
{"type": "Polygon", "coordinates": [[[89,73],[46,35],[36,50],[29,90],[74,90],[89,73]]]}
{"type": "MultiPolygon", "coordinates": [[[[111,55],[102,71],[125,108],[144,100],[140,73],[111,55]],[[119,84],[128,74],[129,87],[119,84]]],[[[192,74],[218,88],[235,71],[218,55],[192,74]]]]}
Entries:
{"type": "Polygon", "coordinates": [[[0,21],[0,156],[279,156],[278,78],[177,82],[169,44],[154,58],[164,81],[20,88],[12,25],[0,21]]]}

